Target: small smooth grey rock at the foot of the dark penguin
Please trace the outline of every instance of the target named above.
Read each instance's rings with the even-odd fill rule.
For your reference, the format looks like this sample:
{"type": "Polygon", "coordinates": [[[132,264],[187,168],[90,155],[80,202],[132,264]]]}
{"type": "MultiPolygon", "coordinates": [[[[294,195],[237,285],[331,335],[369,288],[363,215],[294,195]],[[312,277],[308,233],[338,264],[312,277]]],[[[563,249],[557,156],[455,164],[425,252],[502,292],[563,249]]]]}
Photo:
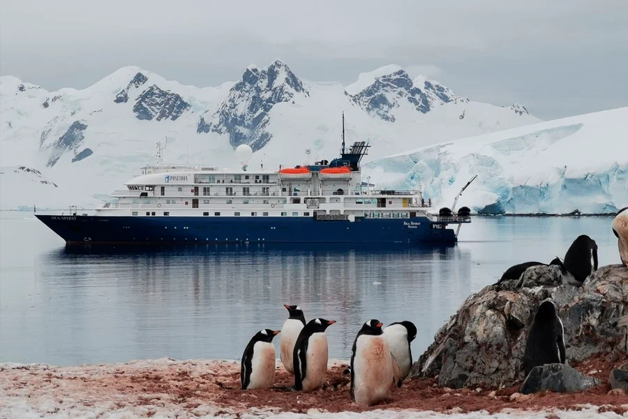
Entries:
{"type": "Polygon", "coordinates": [[[579,392],[596,385],[599,385],[597,378],[585,376],[569,365],[546,364],[534,367],[519,391],[524,395],[545,390],[579,392]]]}

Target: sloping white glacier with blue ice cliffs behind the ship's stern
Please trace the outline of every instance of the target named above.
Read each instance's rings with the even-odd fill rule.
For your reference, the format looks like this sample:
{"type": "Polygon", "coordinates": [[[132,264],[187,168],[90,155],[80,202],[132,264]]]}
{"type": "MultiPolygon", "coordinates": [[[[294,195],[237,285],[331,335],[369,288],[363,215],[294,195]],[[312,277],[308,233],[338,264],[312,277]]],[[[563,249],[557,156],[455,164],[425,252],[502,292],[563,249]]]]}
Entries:
{"type": "Polygon", "coordinates": [[[421,147],[368,163],[371,179],[420,187],[436,206],[460,198],[485,214],[589,214],[628,205],[628,108],[421,147]]]}

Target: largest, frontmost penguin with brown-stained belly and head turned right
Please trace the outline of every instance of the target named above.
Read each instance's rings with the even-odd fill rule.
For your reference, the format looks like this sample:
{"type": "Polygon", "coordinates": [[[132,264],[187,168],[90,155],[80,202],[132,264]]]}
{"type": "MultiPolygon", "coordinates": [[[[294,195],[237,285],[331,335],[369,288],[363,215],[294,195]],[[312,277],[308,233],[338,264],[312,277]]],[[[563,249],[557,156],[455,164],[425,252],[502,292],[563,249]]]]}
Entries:
{"type": "Polygon", "coordinates": [[[362,406],[373,406],[388,398],[393,382],[401,387],[401,381],[382,323],[375,318],[367,321],[353,341],[350,395],[362,406]]]}

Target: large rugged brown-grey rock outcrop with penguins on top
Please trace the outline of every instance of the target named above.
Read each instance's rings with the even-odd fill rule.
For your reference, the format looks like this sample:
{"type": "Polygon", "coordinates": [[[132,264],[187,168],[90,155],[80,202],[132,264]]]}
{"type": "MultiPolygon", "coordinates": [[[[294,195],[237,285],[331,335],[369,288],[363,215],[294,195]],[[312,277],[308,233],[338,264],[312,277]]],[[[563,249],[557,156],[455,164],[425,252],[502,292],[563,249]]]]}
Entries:
{"type": "Polygon", "coordinates": [[[552,298],[565,327],[567,361],[622,350],[613,321],[628,313],[628,270],[601,267],[583,287],[562,284],[557,266],[535,266],[521,279],[470,295],[413,366],[449,388],[500,387],[523,381],[523,352],[534,314],[552,298]]]}

